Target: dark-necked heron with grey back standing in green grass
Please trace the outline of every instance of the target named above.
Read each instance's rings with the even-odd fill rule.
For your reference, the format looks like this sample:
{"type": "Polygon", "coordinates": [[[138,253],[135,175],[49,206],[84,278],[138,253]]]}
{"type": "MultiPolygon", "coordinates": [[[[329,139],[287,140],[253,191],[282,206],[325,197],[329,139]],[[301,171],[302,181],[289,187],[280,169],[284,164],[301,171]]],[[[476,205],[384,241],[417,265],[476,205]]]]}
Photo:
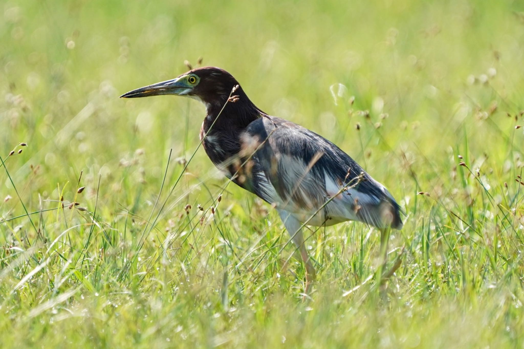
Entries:
{"type": "MultiPolygon", "coordinates": [[[[179,77],[144,86],[122,98],[177,95],[206,108],[202,146],[213,164],[243,189],[274,206],[305,267],[304,292],[316,271],[303,228],[358,221],[380,230],[387,260],[391,229],[403,226],[389,191],[328,139],[258,108],[233,75],[199,67],[179,77]]],[[[392,273],[391,273],[392,274],[392,273]]]]}

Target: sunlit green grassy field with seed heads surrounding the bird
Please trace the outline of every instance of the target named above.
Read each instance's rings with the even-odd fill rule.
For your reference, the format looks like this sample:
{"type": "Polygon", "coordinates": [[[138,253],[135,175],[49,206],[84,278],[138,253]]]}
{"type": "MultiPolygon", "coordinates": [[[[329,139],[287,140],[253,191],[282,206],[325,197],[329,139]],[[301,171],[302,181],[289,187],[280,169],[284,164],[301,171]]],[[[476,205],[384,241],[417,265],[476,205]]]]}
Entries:
{"type": "Polygon", "coordinates": [[[524,346],[522,1],[7,0],[0,16],[1,347],[524,346]],[[397,198],[385,289],[379,232],[349,222],[306,233],[302,301],[277,213],[199,147],[204,107],[118,99],[199,57],[397,198]]]}

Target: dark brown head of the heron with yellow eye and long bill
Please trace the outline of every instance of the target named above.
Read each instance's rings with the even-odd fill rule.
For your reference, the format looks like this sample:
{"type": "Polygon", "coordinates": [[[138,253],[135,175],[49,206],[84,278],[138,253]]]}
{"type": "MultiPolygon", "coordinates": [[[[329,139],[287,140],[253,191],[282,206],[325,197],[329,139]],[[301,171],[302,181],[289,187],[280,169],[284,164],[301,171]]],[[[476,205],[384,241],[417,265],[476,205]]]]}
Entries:
{"type": "MultiPolygon", "coordinates": [[[[192,69],[177,78],[144,86],[121,95],[121,98],[149,97],[174,94],[200,100],[208,108],[223,105],[238,82],[227,71],[216,67],[192,69]]],[[[238,89],[235,94],[242,93],[238,89]]],[[[242,93],[243,94],[243,93],[242,93]]]]}

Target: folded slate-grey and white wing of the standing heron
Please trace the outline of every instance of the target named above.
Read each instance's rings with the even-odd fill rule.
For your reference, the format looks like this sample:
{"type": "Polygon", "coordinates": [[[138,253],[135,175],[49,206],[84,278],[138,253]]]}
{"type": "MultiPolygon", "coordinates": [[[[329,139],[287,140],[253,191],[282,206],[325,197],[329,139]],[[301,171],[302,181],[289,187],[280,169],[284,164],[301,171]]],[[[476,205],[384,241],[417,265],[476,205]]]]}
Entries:
{"type": "MultiPolygon", "coordinates": [[[[301,222],[357,220],[400,229],[400,208],[384,186],[329,140],[292,122],[264,116],[241,138],[250,158],[250,191],[301,222]]],[[[247,188],[246,188],[247,189],[247,188]]]]}

